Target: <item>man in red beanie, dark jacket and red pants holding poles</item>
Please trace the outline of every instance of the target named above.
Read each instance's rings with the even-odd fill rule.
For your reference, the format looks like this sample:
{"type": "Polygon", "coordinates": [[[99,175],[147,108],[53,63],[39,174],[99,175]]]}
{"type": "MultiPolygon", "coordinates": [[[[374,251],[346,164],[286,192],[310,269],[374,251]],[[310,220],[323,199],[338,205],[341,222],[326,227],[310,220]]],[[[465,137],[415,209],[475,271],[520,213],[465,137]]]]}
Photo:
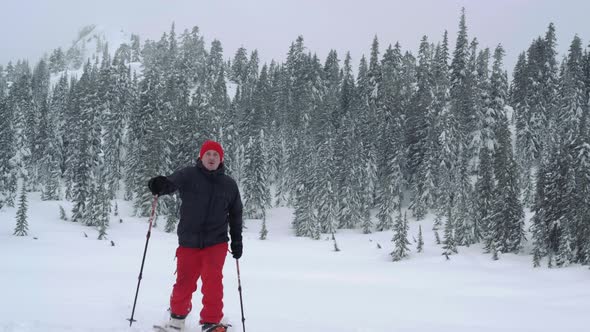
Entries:
{"type": "Polygon", "coordinates": [[[178,190],[182,204],[178,223],[176,283],[170,297],[169,331],[183,331],[192,308],[192,295],[201,278],[203,332],[226,332],[223,317],[223,265],[228,247],[235,259],[242,256],[242,200],[236,182],[225,174],[223,148],[205,141],[195,166],[169,176],[156,176],[148,187],[154,195],[178,190]]]}

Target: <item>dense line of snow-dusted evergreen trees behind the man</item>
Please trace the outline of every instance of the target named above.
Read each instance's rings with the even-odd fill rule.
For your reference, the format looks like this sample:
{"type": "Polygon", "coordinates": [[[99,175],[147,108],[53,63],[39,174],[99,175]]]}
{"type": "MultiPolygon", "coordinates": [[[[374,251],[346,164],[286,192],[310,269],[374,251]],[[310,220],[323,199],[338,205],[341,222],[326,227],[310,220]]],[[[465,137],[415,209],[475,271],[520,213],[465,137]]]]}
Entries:
{"type": "MultiPolygon", "coordinates": [[[[297,236],[395,229],[401,259],[404,206],[436,215],[447,257],[482,243],[497,259],[530,240],[535,266],[588,264],[590,52],[575,36],[558,59],[556,43],[549,24],[511,81],[504,48],[470,39],[465,12],[454,49],[446,32],[422,37],[416,55],[375,37],[356,67],[349,53],[320,60],[303,37],[281,63],[243,47],[224,60],[218,40],[207,47],[197,27],[177,36],[174,25],[112,56],[106,43],[82,61],[56,49],[33,69],[0,67],[0,208],[22,183],[25,212],[25,192],[65,198],[71,221],[103,238],[117,195],[146,216],[147,179],[215,139],[261,238],[266,210],[290,206],[297,236]]],[[[158,206],[167,231],[178,207],[175,196],[158,206]]]]}

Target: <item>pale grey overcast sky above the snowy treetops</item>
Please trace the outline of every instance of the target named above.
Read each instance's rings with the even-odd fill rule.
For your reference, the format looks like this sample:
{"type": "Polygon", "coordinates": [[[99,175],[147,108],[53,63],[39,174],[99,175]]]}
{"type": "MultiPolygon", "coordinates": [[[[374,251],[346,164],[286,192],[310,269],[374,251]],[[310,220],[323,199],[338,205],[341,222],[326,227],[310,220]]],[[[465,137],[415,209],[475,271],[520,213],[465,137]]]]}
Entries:
{"type": "Polygon", "coordinates": [[[57,46],[67,48],[88,24],[159,39],[175,22],[177,33],[196,25],[207,43],[220,40],[226,58],[244,46],[258,49],[262,61],[283,61],[303,35],[322,61],[330,49],[340,59],[350,51],[356,66],[375,35],[381,51],[399,41],[415,53],[423,35],[439,41],[446,29],[453,49],[461,7],[469,38],[490,48],[502,43],[509,71],[549,22],[562,54],[576,33],[589,44],[588,0],[4,0],[0,64],[37,61],[57,46]]]}

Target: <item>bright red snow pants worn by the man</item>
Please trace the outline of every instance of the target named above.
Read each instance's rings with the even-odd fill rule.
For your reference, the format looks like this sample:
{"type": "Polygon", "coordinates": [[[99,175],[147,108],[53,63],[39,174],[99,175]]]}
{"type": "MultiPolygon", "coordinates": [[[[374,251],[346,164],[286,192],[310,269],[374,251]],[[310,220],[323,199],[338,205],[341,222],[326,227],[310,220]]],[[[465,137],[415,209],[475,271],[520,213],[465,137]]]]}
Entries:
{"type": "Polygon", "coordinates": [[[211,247],[176,249],[176,283],[170,296],[170,310],[178,316],[186,316],[192,309],[193,293],[201,278],[203,309],[200,323],[219,323],[223,318],[223,264],[227,254],[227,242],[211,247]]]}

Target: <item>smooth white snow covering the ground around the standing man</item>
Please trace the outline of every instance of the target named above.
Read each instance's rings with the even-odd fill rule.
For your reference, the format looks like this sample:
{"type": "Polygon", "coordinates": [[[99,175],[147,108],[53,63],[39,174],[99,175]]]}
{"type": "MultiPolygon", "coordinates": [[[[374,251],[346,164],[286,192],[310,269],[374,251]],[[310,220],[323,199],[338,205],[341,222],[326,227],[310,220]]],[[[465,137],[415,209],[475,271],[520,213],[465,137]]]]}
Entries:
{"type": "MultiPolygon", "coordinates": [[[[129,203],[118,201],[120,216],[112,216],[107,231],[111,246],[96,240],[94,228],[59,220],[59,205],[69,215],[69,202],[29,194],[27,237],[12,235],[16,208],[0,211],[0,331],[139,332],[165,322],[177,239],[163,231],[164,221],[152,231],[137,322],[129,327],[147,218],[131,217],[129,203]]],[[[527,254],[493,261],[479,246],[460,247],[447,261],[434,243],[431,215],[411,219],[410,258],[391,262],[391,231],[340,231],[341,251],[334,252],[327,235],[294,237],[291,216],[291,209],[272,209],[264,241],[259,221],[246,223],[239,264],[247,331],[588,331],[587,267],[535,269],[527,254]],[[420,224],[425,245],[416,253],[420,224]]],[[[229,255],[224,275],[225,321],[242,331],[229,255]]],[[[196,332],[199,291],[193,304],[187,325],[196,332]]]]}

